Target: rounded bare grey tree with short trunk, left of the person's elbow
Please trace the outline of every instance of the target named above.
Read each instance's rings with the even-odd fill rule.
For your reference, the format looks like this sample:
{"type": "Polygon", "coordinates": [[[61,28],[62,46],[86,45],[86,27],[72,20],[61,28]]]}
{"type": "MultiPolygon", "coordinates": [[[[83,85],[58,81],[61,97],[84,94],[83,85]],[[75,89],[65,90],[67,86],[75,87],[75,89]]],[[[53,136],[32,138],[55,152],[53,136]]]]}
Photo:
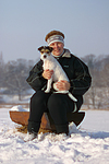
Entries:
{"type": "Polygon", "coordinates": [[[24,60],[10,61],[7,65],[5,85],[10,93],[17,94],[19,99],[22,99],[22,93],[27,90],[26,83],[27,68],[24,60]]]}

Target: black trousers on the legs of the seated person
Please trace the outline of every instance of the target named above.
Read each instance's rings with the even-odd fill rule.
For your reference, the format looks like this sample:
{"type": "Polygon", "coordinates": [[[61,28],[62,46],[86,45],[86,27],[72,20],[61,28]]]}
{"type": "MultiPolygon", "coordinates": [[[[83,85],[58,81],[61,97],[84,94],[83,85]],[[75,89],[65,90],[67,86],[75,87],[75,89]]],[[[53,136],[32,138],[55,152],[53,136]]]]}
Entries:
{"type": "Polygon", "coordinates": [[[68,94],[51,94],[38,91],[32,96],[29,108],[28,132],[37,133],[40,127],[43,114],[49,112],[55,121],[57,133],[69,133],[66,113],[74,110],[74,102],[68,96],[68,94]]]}

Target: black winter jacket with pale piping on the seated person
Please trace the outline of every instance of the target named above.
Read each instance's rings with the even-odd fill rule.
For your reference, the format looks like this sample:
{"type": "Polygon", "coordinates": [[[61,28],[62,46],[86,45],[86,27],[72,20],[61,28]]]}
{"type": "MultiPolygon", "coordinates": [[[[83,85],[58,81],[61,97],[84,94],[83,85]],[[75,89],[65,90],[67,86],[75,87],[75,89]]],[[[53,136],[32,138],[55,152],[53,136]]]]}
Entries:
{"type": "MultiPolygon", "coordinates": [[[[64,54],[57,58],[65,71],[70,83],[70,92],[78,99],[89,89],[92,78],[87,66],[74,55],[64,49],[64,54]]],[[[39,60],[29,72],[28,84],[35,90],[46,90],[47,80],[43,78],[43,61],[39,60]]]]}

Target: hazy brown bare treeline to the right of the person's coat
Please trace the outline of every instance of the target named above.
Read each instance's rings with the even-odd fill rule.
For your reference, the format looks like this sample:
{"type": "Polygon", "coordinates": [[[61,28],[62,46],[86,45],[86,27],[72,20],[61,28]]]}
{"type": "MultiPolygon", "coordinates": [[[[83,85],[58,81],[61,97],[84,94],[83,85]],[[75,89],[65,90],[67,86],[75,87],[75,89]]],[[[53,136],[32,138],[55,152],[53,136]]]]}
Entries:
{"type": "Polygon", "coordinates": [[[90,55],[85,62],[93,78],[92,87],[84,96],[85,104],[88,108],[109,108],[109,56],[95,58],[90,55]]]}

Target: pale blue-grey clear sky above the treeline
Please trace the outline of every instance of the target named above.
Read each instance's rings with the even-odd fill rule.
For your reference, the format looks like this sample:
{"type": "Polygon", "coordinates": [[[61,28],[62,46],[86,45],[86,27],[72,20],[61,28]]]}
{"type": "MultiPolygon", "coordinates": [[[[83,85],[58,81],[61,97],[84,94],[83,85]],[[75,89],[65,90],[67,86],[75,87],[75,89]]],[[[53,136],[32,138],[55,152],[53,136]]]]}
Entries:
{"type": "Polygon", "coordinates": [[[0,54],[4,61],[35,60],[51,30],[83,57],[109,55],[109,0],[0,0],[0,54]]]}

